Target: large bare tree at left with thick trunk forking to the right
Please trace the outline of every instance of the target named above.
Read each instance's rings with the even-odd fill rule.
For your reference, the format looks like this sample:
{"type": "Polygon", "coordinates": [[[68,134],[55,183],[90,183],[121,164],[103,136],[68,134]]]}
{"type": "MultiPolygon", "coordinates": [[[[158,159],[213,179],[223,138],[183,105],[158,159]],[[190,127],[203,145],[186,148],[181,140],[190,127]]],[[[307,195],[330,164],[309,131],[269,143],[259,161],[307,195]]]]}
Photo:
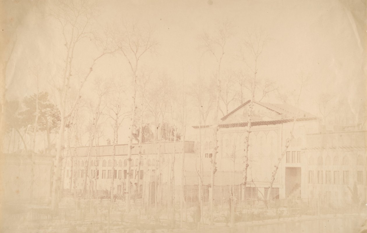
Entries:
{"type": "MultiPolygon", "coordinates": [[[[59,23],[61,26],[61,34],[63,42],[66,48],[65,58],[62,61],[62,73],[57,79],[54,79],[55,89],[58,95],[58,108],[60,111],[60,128],[58,132],[58,140],[56,145],[56,160],[54,163],[54,175],[52,181],[52,194],[51,194],[51,208],[58,208],[58,193],[60,191],[61,177],[60,171],[62,167],[62,154],[64,145],[64,132],[65,124],[68,118],[72,115],[75,110],[77,103],[81,96],[81,90],[88,77],[93,71],[96,62],[101,59],[104,55],[112,53],[115,49],[110,49],[108,39],[99,39],[95,36],[91,27],[91,21],[95,15],[96,6],[91,3],[80,0],[80,1],[58,1],[50,7],[50,15],[59,23]],[[81,41],[87,39],[94,41],[101,41],[101,51],[94,59],[91,64],[86,68],[84,74],[79,73],[75,70],[74,52],[79,47],[81,41]],[[67,99],[69,96],[69,90],[71,83],[75,80],[77,82],[77,95],[73,104],[68,107],[67,99]]],[[[83,48],[86,48],[85,46],[83,48]]],[[[88,48],[90,49],[90,48],[88,48]]]]}

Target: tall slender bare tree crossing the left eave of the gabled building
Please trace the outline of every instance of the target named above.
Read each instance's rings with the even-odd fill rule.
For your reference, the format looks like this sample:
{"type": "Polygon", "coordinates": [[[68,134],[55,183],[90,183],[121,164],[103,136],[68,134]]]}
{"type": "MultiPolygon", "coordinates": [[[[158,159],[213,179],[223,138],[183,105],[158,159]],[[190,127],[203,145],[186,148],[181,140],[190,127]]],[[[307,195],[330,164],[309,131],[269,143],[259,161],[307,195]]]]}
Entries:
{"type": "Polygon", "coordinates": [[[217,71],[215,72],[215,78],[217,79],[215,106],[214,106],[214,124],[213,124],[213,155],[211,158],[211,179],[209,189],[209,201],[210,201],[210,222],[213,224],[213,191],[214,191],[214,178],[215,172],[217,171],[217,153],[218,153],[218,111],[219,111],[219,100],[221,96],[221,66],[222,59],[224,57],[225,45],[228,38],[231,36],[231,25],[229,22],[220,23],[214,36],[210,36],[207,33],[201,37],[204,48],[215,58],[217,62],[217,71]]]}

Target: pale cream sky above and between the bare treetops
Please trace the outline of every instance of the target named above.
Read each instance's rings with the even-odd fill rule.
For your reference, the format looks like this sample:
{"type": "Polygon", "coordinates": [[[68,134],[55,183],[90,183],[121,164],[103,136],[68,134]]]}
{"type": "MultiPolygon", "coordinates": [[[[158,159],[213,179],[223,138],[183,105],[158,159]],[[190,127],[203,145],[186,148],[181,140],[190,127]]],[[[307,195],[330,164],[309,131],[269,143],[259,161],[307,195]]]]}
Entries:
{"type": "MultiPolygon", "coordinates": [[[[297,74],[303,71],[311,79],[302,95],[301,108],[317,114],[316,99],[321,93],[335,95],[351,105],[365,103],[366,98],[366,5],[339,1],[294,0],[162,0],[99,1],[102,27],[120,27],[121,22],[138,22],[155,28],[159,43],[157,53],[142,60],[145,66],[163,71],[173,79],[182,76],[192,82],[198,70],[206,78],[215,63],[202,56],[198,35],[211,33],[217,22],[232,22],[233,37],[226,45],[223,70],[246,69],[235,59],[247,32],[262,30],[269,42],[259,60],[259,78],[276,80],[284,90],[296,89],[297,74]]],[[[57,75],[57,64],[65,56],[58,40],[59,32],[47,18],[43,1],[9,1],[8,18],[15,23],[3,24],[10,33],[16,30],[17,42],[7,67],[8,98],[34,93],[34,77],[29,70],[43,67],[41,88],[49,89],[50,77],[57,75]],[[12,2],[12,3],[10,3],[12,2]]],[[[4,21],[3,21],[4,22],[4,21]]],[[[94,55],[81,49],[80,66],[94,55]],[[84,56],[84,57],[83,57],[84,56]],[[87,59],[84,59],[87,58],[87,59]]],[[[65,49],[64,49],[65,50],[65,49]]],[[[127,63],[121,54],[104,58],[94,69],[94,77],[121,75],[128,78],[127,63]]],[[[91,77],[92,79],[92,77],[91,77]]],[[[88,95],[88,91],[83,92],[88,95]]],[[[275,100],[276,101],[276,100],[275,100]]],[[[271,100],[269,100],[271,102],[271,100]]]]}

